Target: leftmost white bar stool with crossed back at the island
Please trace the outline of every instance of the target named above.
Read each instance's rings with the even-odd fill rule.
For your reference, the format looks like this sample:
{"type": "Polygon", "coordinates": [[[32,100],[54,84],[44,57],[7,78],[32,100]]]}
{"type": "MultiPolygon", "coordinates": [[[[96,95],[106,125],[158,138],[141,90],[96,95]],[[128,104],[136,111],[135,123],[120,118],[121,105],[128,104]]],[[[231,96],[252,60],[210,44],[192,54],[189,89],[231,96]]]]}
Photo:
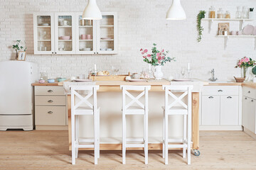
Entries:
{"type": "Polygon", "coordinates": [[[78,158],[78,148],[94,148],[95,164],[100,157],[100,108],[97,108],[97,90],[99,86],[70,86],[71,89],[71,135],[72,135],[72,164],[78,158]],[[83,97],[79,92],[87,94],[83,97]],[[88,98],[93,96],[93,105],[88,98]],[[79,102],[75,102],[75,97],[79,102]],[[82,105],[83,104],[83,105],[82,105]],[[94,138],[89,140],[79,139],[79,115],[93,115],[94,138]]]}

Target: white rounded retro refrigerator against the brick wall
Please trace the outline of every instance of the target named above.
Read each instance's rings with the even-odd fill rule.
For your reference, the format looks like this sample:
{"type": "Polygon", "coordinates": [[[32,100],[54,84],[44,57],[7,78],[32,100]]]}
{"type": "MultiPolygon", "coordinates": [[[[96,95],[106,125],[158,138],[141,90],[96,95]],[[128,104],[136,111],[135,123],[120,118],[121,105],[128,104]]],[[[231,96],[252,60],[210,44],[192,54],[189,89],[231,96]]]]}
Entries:
{"type": "Polygon", "coordinates": [[[0,62],[0,130],[33,130],[33,87],[37,64],[0,62]]]}

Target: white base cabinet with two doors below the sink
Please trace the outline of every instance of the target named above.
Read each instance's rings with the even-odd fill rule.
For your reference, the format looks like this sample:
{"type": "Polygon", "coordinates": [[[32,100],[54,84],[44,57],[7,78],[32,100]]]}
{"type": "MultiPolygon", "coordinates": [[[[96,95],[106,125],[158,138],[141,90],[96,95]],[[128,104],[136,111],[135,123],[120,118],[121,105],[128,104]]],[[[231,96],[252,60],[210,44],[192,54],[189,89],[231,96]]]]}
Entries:
{"type": "Polygon", "coordinates": [[[240,86],[203,86],[201,130],[241,130],[240,86]]]}

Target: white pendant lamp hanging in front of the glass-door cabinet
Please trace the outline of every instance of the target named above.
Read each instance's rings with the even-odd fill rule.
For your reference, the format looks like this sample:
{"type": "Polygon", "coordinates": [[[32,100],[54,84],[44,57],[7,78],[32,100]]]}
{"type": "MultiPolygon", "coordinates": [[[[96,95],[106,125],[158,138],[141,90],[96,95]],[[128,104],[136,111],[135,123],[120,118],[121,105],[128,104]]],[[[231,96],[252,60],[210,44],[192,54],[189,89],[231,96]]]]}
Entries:
{"type": "Polygon", "coordinates": [[[96,0],[89,0],[85,10],[82,12],[82,19],[86,20],[100,20],[102,14],[100,8],[96,4],[96,0]]]}

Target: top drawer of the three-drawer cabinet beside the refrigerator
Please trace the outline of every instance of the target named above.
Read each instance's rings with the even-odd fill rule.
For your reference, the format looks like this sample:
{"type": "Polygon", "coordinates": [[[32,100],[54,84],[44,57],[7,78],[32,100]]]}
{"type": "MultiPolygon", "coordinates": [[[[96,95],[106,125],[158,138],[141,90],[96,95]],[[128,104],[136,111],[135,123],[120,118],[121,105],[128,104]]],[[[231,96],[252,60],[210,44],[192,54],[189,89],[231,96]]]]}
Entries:
{"type": "Polygon", "coordinates": [[[35,86],[35,95],[65,95],[63,86],[35,86]]]}

